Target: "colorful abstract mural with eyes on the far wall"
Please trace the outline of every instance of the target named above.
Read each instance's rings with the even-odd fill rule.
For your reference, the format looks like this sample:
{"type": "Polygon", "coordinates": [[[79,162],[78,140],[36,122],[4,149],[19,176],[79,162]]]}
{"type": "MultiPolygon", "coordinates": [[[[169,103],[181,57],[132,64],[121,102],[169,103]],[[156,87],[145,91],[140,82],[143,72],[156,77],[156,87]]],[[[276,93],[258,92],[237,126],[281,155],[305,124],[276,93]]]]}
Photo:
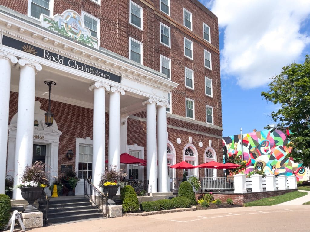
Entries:
{"type": "MultiPolygon", "coordinates": [[[[245,174],[257,170],[263,170],[267,175],[295,175],[297,181],[308,180],[309,169],[302,164],[293,162],[287,158],[291,148],[288,146],[287,133],[279,130],[256,131],[243,134],[243,157],[246,160],[245,174]]],[[[229,156],[241,154],[241,135],[232,135],[223,138],[223,146],[227,147],[229,156]]]]}

